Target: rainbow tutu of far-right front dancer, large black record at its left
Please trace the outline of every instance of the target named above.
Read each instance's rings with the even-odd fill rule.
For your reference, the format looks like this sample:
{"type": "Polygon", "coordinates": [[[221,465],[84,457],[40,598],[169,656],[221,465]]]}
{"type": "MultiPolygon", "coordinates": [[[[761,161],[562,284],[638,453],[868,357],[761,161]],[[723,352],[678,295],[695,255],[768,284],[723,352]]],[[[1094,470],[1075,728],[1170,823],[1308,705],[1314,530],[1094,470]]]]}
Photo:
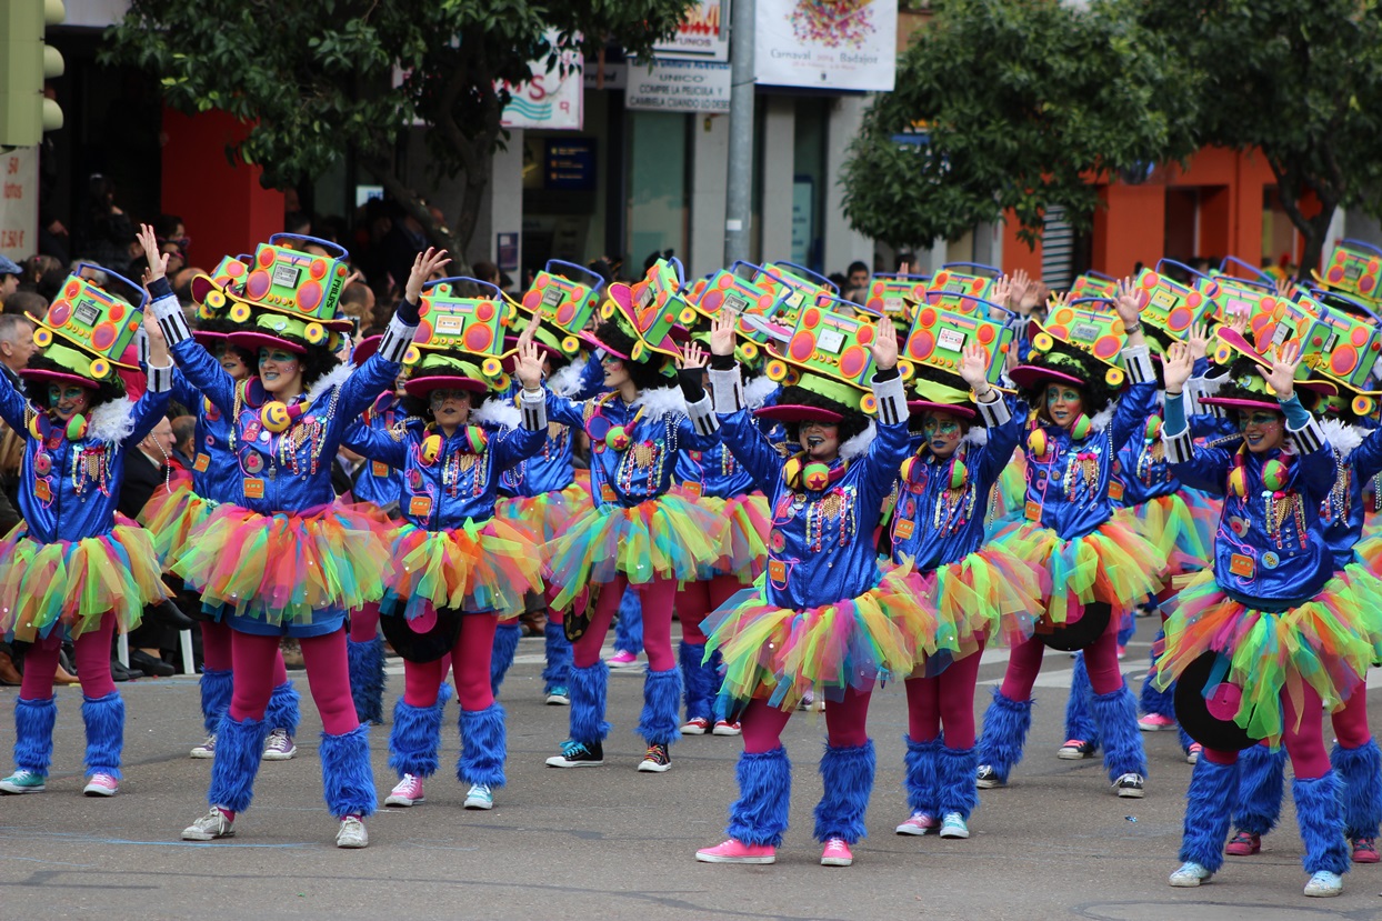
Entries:
{"type": "Polygon", "coordinates": [[[1234,722],[1271,744],[1282,733],[1282,691],[1292,696],[1296,712],[1306,683],[1331,711],[1363,693],[1382,617],[1375,604],[1360,604],[1339,577],[1288,611],[1258,611],[1229,597],[1211,570],[1162,608],[1169,617],[1157,687],[1169,687],[1204,653],[1219,653],[1229,660],[1224,680],[1242,689],[1234,722]]]}

